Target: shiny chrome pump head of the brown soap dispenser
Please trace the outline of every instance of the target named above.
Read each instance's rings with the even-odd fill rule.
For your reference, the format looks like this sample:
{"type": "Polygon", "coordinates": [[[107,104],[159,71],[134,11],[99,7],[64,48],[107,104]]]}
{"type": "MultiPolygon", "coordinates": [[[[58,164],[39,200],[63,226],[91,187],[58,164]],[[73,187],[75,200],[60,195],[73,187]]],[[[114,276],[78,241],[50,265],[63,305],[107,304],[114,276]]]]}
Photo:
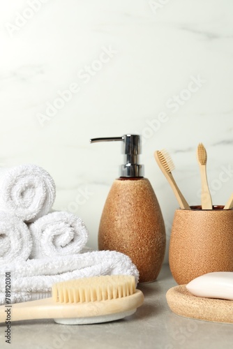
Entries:
{"type": "Polygon", "coordinates": [[[122,153],[124,164],[120,166],[121,177],[143,177],[144,165],[140,165],[139,154],[141,154],[140,135],[123,135],[122,137],[92,138],[93,142],[122,141],[122,153]]]}

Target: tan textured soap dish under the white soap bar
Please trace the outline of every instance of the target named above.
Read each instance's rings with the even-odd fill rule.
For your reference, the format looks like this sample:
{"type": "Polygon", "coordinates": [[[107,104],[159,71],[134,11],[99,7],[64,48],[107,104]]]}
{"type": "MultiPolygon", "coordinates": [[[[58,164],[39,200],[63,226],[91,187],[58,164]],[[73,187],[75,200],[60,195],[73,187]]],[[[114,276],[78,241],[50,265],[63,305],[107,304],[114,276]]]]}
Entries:
{"type": "Polygon", "coordinates": [[[186,285],[167,291],[167,304],[177,315],[197,320],[233,324],[233,301],[192,295],[186,285]]]}

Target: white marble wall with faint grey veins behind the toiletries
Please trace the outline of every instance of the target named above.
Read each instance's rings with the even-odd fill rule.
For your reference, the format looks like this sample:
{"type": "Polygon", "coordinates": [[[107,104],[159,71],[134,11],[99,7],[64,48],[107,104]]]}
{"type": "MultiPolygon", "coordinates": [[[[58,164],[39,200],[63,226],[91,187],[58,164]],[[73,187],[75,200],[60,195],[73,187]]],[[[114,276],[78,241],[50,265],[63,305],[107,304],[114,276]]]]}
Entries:
{"type": "Polygon", "coordinates": [[[48,170],[54,208],[81,216],[97,248],[122,159],[118,142],[89,138],[140,133],[169,242],[178,205],[153,151],[199,204],[203,142],[213,203],[233,192],[232,18],[231,0],[1,0],[1,166],[48,170]]]}

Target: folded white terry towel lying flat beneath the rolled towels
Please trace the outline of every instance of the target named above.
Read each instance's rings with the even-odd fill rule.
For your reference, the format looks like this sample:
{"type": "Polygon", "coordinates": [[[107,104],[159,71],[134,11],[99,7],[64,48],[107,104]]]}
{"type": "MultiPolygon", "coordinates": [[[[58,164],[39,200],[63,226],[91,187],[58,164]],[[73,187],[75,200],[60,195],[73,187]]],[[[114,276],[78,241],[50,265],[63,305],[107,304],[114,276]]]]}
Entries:
{"type": "Polygon", "coordinates": [[[139,272],[127,255],[117,251],[93,251],[56,259],[27,260],[27,262],[1,265],[0,304],[6,302],[5,279],[10,274],[10,301],[26,302],[50,297],[54,283],[82,277],[126,274],[135,276],[139,272]]]}

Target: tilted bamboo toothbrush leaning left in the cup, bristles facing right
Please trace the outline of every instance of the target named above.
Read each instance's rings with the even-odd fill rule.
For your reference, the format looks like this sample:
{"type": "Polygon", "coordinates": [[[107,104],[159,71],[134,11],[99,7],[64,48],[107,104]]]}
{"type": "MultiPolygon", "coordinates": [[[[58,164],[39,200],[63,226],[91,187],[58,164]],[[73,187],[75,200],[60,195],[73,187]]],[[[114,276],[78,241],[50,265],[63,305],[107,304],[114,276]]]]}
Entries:
{"type": "Polygon", "coordinates": [[[160,170],[163,172],[163,174],[167,178],[167,181],[172,187],[174,195],[176,196],[176,200],[179,202],[179,206],[181,207],[181,209],[190,209],[188,202],[185,198],[183,198],[183,195],[172,176],[172,171],[174,170],[174,163],[170,155],[167,153],[167,151],[165,151],[165,149],[161,151],[155,151],[153,155],[158,163],[158,166],[160,167],[160,170]]]}

